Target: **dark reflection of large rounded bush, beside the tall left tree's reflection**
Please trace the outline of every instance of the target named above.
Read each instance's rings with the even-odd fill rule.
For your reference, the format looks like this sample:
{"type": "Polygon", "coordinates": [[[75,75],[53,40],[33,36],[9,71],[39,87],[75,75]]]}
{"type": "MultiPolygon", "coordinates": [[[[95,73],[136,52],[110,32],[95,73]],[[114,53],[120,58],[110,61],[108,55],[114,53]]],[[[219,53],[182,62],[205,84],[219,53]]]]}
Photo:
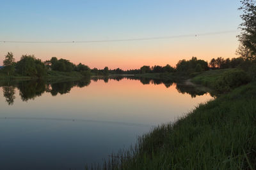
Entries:
{"type": "Polygon", "coordinates": [[[37,96],[41,96],[45,92],[45,82],[43,80],[37,81],[20,81],[18,83],[18,89],[20,90],[20,97],[22,101],[28,101],[29,99],[35,99],[37,96]]]}

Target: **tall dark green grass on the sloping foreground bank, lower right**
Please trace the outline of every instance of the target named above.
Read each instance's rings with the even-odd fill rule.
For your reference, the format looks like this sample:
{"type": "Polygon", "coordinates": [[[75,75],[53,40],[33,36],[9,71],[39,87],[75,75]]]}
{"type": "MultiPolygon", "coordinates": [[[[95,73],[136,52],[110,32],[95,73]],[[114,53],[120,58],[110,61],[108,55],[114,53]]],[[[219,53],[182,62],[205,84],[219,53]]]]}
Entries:
{"type": "Polygon", "coordinates": [[[118,156],[109,169],[256,169],[256,83],[200,104],[118,156]]]}

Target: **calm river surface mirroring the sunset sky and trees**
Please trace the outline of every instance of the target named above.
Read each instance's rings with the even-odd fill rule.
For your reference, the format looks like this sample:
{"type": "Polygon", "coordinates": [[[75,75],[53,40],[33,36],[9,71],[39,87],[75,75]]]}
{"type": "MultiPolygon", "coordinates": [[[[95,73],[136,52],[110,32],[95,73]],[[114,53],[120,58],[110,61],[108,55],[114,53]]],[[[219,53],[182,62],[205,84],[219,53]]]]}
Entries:
{"type": "Polygon", "coordinates": [[[0,169],[83,169],[209,99],[150,79],[1,82],[0,169]]]}

